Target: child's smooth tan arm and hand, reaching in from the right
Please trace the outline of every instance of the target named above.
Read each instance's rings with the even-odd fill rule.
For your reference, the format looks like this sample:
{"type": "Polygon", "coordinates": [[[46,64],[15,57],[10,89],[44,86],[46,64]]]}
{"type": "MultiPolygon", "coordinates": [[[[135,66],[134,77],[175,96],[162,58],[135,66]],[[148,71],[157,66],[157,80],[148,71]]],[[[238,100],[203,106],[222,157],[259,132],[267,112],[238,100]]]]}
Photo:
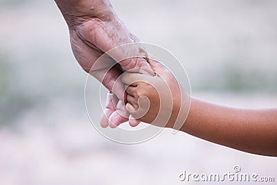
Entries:
{"type": "MultiPolygon", "coordinates": [[[[139,116],[140,120],[145,123],[173,127],[180,109],[180,114],[186,114],[189,97],[184,90],[180,91],[177,80],[166,67],[152,60],[150,60],[150,64],[157,73],[156,77],[148,78],[137,73],[126,73],[123,76],[123,82],[131,85],[126,90],[128,94],[127,109],[135,117],[139,116],[139,114],[136,115],[137,109],[145,112],[145,115],[139,116]],[[158,89],[154,88],[166,89],[162,80],[168,84],[173,96],[167,93],[161,94],[158,89]],[[148,97],[150,106],[147,105],[147,101],[138,103],[141,97],[148,97]],[[161,103],[164,101],[162,99],[172,100],[172,114],[167,123],[161,123],[163,117],[167,118],[168,116],[158,114],[159,108],[171,109],[171,107],[162,107],[160,104],[160,101],[161,103]],[[153,122],[155,116],[160,117],[158,123],[153,122]]],[[[206,141],[253,154],[277,156],[277,109],[238,109],[191,98],[188,118],[186,121],[185,119],[180,120],[183,121],[181,131],[206,141]]]]}

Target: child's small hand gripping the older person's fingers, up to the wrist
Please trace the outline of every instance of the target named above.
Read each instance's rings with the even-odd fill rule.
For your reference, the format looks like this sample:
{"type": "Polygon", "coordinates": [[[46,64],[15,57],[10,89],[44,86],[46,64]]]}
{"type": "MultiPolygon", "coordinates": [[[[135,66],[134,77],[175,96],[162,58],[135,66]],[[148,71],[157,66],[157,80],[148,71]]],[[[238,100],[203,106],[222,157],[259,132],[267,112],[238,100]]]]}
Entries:
{"type": "MultiPolygon", "coordinates": [[[[179,130],[186,120],[190,97],[163,64],[150,59],[150,66],[156,76],[123,74],[121,80],[127,86],[127,111],[145,123],[179,130]]],[[[129,124],[136,126],[132,121],[129,124]]]]}

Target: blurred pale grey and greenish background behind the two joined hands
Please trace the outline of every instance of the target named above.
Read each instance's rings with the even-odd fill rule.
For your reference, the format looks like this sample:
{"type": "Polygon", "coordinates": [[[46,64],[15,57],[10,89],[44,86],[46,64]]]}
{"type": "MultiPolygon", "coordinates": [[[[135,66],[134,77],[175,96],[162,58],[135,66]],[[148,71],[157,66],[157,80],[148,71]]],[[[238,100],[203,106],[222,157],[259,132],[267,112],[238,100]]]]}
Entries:
{"type": "MultiPolygon", "coordinates": [[[[276,107],[277,1],[111,2],[142,42],[179,58],[193,96],[276,107]]],[[[0,0],[0,25],[0,184],[182,184],[183,170],[227,173],[235,165],[277,180],[276,159],[185,133],[163,130],[135,146],[105,139],[87,118],[87,74],[55,2],[0,0]]]]}

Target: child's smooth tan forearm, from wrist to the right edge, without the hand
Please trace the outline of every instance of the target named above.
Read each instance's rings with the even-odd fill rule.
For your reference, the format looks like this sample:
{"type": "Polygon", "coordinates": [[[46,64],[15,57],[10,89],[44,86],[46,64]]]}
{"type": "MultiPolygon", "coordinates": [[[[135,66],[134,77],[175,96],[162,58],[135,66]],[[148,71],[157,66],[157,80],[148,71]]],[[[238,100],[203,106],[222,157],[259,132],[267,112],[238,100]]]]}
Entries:
{"type": "Polygon", "coordinates": [[[192,98],[181,131],[244,152],[277,156],[277,109],[237,109],[192,98]]]}

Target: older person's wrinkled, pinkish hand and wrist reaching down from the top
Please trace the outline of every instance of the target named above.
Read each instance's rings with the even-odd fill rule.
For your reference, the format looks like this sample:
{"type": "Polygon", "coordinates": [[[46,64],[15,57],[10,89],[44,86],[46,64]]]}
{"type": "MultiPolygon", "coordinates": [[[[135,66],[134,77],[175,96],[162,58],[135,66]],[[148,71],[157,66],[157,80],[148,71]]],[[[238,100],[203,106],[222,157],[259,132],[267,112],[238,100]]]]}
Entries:
{"type": "MultiPolygon", "coordinates": [[[[55,2],[69,26],[73,54],[82,69],[87,73],[91,71],[91,67],[103,53],[122,44],[139,42],[139,39],[130,33],[118,19],[111,3],[107,0],[55,0],[55,2]]],[[[98,80],[101,79],[102,84],[109,89],[107,105],[100,121],[102,127],[107,127],[108,125],[116,127],[120,123],[128,121],[128,118],[130,124],[139,124],[139,121],[132,118],[132,116],[129,117],[125,109],[125,104],[123,103],[126,97],[124,86],[117,79],[123,71],[129,69],[151,68],[147,60],[145,60],[148,56],[147,52],[139,44],[130,47],[124,52],[113,53],[110,56],[110,64],[100,64],[97,69],[93,69],[93,73],[90,73],[98,80]],[[117,61],[118,64],[108,70],[105,75],[111,64],[115,63],[114,60],[116,58],[124,58],[122,55],[126,53],[134,53],[134,55],[140,57],[117,61]]],[[[152,71],[139,70],[136,72],[154,76],[152,71]]]]}

